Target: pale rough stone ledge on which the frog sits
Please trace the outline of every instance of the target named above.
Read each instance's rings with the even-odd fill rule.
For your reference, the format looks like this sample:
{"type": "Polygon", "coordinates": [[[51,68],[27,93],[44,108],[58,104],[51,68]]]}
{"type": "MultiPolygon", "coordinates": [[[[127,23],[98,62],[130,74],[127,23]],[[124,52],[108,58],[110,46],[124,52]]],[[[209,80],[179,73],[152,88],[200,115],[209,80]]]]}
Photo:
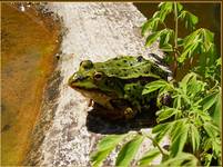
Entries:
{"type": "MultiPolygon", "coordinates": [[[[122,134],[134,128],[88,115],[92,108],[84,97],[68,87],[68,78],[84,59],[104,61],[119,55],[148,57],[151,52],[162,57],[162,52],[158,43],[144,48],[140,27],[145,18],[132,3],[52,2],[45,8],[63,19],[67,33],[57,68],[59,79],[52,80],[59,80],[54,87],[57,96],[50,91],[53,85],[49,85],[45,91],[52,95],[45,95],[40,122],[33,132],[34,147],[26,165],[89,166],[89,154],[103,134],[122,134]]],[[[150,145],[145,141],[141,153],[150,145]]],[[[107,160],[108,166],[114,165],[114,157],[115,151],[107,160]]]]}

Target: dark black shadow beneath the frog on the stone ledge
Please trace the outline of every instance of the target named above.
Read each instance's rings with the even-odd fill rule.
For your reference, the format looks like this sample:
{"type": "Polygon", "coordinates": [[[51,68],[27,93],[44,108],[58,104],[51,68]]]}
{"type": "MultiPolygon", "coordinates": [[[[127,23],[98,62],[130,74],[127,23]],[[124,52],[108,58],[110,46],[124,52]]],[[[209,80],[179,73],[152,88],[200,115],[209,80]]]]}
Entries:
{"type": "Polygon", "coordinates": [[[97,134],[125,134],[131,130],[140,130],[142,128],[153,127],[155,121],[154,111],[141,112],[131,120],[110,120],[109,118],[101,117],[97,114],[95,109],[89,111],[87,116],[87,128],[91,132],[97,134]]]}

